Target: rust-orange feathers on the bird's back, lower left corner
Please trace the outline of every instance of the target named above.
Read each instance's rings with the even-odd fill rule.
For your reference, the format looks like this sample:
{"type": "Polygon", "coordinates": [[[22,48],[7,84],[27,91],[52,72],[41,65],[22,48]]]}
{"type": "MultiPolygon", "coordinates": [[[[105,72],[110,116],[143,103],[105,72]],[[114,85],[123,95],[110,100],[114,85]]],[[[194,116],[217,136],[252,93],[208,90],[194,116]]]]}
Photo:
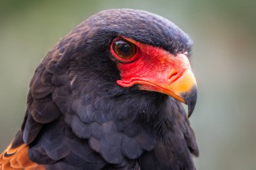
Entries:
{"type": "MultiPolygon", "coordinates": [[[[12,142],[11,142],[12,143],[12,142]]],[[[11,148],[11,144],[0,155],[1,170],[44,170],[45,167],[30,161],[28,145],[11,148]]]]}

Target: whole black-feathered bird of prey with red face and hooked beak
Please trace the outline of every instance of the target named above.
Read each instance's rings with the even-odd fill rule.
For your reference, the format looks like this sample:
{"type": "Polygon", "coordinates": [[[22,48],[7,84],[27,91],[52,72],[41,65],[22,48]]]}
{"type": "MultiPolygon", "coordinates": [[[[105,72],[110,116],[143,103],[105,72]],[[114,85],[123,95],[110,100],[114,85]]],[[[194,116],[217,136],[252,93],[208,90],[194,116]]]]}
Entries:
{"type": "Polygon", "coordinates": [[[195,169],[192,44],[147,11],[92,15],[37,67],[0,169],[195,169]]]}

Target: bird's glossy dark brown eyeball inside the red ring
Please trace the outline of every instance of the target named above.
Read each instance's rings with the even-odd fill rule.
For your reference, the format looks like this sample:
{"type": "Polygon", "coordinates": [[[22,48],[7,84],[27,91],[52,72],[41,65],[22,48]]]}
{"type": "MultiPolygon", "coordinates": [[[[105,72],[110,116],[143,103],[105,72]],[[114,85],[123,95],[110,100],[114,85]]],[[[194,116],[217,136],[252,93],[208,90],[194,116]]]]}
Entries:
{"type": "Polygon", "coordinates": [[[112,44],[112,50],[123,60],[129,60],[135,56],[137,52],[137,46],[127,40],[117,39],[114,40],[112,44]]]}

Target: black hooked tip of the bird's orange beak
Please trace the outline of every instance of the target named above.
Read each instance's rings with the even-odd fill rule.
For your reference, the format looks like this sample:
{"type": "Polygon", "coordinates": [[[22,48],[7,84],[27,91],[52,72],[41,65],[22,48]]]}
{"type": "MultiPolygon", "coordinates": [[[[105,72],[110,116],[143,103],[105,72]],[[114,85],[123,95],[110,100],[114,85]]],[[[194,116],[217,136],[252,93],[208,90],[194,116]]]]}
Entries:
{"type": "Polygon", "coordinates": [[[185,93],[182,96],[189,108],[189,111],[187,114],[187,118],[189,118],[195,109],[195,104],[197,103],[197,87],[193,87],[193,89],[191,89],[189,93],[185,93]]]}

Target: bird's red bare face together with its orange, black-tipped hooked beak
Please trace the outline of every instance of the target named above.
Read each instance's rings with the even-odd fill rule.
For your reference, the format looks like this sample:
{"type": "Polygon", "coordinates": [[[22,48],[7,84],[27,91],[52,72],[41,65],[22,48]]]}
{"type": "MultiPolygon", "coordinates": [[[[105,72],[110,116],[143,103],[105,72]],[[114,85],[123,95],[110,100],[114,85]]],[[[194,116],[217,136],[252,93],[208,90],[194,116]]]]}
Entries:
{"type": "Polygon", "coordinates": [[[170,95],[188,105],[188,118],[197,101],[197,83],[185,54],[172,55],[170,52],[134,42],[139,49],[139,58],[131,63],[119,63],[122,87],[139,85],[139,89],[158,91],[170,95]]]}

